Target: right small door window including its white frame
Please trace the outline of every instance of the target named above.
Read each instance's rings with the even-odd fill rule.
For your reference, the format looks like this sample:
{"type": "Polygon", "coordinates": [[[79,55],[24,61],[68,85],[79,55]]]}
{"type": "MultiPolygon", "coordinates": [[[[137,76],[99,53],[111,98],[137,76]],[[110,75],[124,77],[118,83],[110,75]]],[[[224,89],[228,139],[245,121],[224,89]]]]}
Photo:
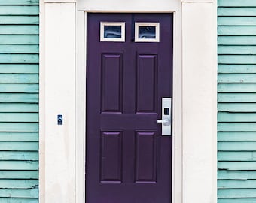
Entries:
{"type": "Polygon", "coordinates": [[[159,23],[135,23],[136,42],[159,42],[160,24],[159,23]]]}

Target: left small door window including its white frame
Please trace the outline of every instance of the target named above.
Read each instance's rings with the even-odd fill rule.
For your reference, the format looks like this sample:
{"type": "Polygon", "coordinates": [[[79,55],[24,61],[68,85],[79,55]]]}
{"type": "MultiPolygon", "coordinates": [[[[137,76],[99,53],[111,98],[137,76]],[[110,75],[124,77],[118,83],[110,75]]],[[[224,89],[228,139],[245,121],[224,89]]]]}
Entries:
{"type": "Polygon", "coordinates": [[[125,23],[101,22],[100,41],[125,41],[125,23]]]}

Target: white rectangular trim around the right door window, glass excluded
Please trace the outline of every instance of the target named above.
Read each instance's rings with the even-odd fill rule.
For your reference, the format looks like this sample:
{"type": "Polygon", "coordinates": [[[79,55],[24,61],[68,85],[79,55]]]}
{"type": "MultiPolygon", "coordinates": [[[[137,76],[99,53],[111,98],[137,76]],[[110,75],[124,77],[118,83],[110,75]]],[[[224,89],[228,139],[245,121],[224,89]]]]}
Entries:
{"type": "Polygon", "coordinates": [[[135,42],[160,42],[160,23],[135,22],[135,42]],[[155,26],[156,38],[139,38],[139,26],[155,26]]]}

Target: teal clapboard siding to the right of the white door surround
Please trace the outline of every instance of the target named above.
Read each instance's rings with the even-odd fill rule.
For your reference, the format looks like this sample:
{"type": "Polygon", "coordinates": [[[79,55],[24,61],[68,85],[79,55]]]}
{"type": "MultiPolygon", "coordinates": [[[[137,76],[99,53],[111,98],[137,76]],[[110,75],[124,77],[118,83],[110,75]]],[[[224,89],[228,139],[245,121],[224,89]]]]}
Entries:
{"type": "Polygon", "coordinates": [[[256,1],[218,0],[218,203],[256,202],[256,1]]]}

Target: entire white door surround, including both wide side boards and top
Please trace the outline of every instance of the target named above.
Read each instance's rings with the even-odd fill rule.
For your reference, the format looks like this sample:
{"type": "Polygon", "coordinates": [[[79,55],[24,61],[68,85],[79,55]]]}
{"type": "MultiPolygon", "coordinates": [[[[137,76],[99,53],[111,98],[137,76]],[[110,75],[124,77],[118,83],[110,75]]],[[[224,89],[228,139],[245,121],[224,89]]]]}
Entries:
{"type": "Polygon", "coordinates": [[[174,13],[172,203],[216,202],[215,0],[40,1],[40,203],[85,199],[87,12],[174,13]]]}

